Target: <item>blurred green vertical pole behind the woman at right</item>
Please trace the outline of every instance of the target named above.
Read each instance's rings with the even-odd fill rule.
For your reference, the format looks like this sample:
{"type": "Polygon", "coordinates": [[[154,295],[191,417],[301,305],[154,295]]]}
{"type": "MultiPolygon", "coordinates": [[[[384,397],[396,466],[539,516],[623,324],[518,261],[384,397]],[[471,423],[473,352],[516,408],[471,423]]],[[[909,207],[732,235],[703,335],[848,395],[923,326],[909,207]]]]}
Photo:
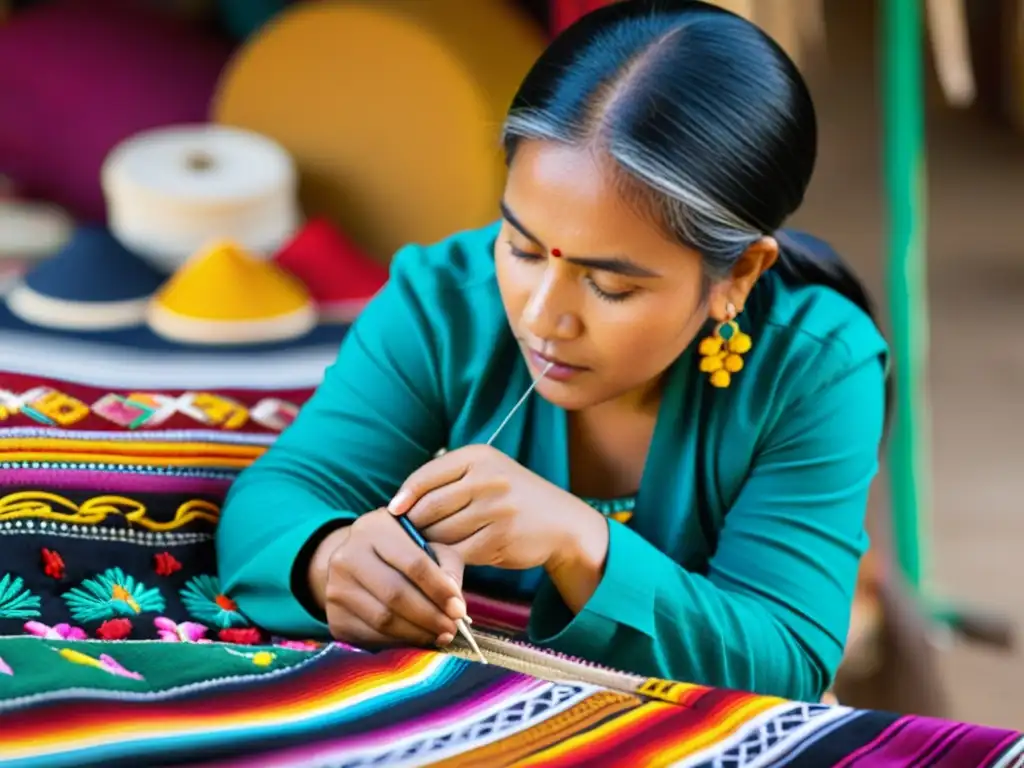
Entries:
{"type": "Polygon", "coordinates": [[[921,0],[884,0],[885,178],[889,210],[888,292],[895,410],[889,439],[893,544],[916,589],[926,578],[931,507],[924,28],[921,0]]]}

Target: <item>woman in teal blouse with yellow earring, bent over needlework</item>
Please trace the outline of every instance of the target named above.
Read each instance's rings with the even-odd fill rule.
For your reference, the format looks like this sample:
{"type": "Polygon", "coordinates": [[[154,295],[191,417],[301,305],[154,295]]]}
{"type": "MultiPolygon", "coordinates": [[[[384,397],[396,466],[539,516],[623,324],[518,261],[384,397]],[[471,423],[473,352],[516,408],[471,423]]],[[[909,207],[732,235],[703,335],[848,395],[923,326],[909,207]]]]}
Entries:
{"type": "Polygon", "coordinates": [[[443,645],[465,584],[531,599],[540,645],[817,699],[887,352],[856,280],[776,233],[814,165],[800,75],[714,6],[613,4],[537,62],[504,142],[501,221],[400,251],[234,484],[225,591],[281,633],[443,645]]]}

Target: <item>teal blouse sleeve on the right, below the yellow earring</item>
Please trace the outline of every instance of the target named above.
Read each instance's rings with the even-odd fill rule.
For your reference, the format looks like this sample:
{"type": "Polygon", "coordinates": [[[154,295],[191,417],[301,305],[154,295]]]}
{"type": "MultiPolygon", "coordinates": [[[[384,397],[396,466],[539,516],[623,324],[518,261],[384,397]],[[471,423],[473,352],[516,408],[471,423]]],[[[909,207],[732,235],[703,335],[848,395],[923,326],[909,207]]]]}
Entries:
{"type": "Polygon", "coordinates": [[[653,677],[819,699],[842,659],[866,549],[884,400],[876,356],[787,408],[725,516],[707,574],[609,521],[598,589],[572,616],[545,584],[535,642],[653,677]]]}

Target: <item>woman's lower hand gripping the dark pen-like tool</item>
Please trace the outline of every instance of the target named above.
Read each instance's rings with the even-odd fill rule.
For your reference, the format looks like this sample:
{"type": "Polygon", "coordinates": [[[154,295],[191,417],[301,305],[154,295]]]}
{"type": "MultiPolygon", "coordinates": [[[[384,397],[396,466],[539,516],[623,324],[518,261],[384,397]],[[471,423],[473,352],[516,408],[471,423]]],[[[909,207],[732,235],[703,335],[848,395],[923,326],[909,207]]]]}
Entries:
{"type": "Polygon", "coordinates": [[[440,565],[383,509],[331,534],[309,565],[331,634],[359,646],[451,643],[466,615],[463,561],[450,547],[433,549],[440,565]]]}

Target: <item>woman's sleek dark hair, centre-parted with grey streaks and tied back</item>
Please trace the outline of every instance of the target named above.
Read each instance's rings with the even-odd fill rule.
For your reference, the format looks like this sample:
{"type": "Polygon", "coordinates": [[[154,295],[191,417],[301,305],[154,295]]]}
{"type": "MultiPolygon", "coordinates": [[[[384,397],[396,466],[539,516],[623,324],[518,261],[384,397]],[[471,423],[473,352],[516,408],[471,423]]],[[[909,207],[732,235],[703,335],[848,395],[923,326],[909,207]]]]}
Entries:
{"type": "Polygon", "coordinates": [[[632,199],[702,255],[709,281],[771,234],[784,281],[827,286],[873,318],[835,251],[778,231],[810,182],[817,121],[797,67],[744,18],[695,0],[588,13],[519,87],[503,133],[509,162],[522,139],[598,143],[632,199]]]}

